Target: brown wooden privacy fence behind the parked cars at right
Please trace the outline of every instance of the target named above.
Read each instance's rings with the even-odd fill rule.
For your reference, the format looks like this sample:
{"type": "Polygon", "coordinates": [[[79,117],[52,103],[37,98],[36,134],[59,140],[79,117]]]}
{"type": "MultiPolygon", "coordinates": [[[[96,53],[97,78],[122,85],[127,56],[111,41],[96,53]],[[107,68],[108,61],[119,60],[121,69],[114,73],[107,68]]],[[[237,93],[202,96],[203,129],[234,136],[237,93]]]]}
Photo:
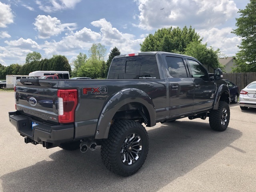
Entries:
{"type": "Polygon", "coordinates": [[[256,81],[256,73],[224,73],[223,79],[232,81],[239,86],[239,91],[245,88],[249,83],[256,81]]]}

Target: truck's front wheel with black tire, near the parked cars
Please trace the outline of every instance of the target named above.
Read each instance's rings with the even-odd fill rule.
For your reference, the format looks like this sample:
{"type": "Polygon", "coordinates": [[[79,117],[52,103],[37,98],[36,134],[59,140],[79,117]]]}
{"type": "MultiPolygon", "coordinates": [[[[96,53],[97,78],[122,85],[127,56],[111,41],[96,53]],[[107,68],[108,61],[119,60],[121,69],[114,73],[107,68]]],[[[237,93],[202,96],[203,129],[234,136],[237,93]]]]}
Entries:
{"type": "Polygon", "coordinates": [[[216,131],[224,131],[230,120],[230,108],[227,102],[220,101],[218,110],[212,110],[209,116],[210,127],[216,131]]]}

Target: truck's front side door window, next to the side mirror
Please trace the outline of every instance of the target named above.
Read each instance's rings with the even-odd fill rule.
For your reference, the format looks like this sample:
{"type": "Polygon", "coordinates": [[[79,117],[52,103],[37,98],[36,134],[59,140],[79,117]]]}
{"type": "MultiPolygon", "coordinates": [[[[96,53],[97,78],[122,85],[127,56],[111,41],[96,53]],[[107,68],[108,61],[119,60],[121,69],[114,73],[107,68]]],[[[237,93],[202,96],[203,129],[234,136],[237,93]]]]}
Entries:
{"type": "Polygon", "coordinates": [[[208,72],[201,64],[190,59],[188,59],[188,64],[190,65],[190,69],[192,71],[192,77],[198,77],[205,81],[208,81],[208,72]]]}

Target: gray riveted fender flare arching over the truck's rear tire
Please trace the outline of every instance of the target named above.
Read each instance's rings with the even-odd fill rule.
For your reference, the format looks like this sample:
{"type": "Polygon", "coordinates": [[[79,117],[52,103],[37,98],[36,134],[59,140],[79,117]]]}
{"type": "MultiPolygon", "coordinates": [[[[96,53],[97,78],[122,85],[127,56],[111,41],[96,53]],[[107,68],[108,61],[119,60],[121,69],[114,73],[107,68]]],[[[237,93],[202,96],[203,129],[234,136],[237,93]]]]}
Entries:
{"type": "Polygon", "coordinates": [[[112,118],[122,106],[132,102],[145,106],[150,116],[149,126],[156,125],[156,110],[152,98],[142,90],[128,88],[116,93],[104,106],[98,120],[95,139],[108,138],[112,118]]]}

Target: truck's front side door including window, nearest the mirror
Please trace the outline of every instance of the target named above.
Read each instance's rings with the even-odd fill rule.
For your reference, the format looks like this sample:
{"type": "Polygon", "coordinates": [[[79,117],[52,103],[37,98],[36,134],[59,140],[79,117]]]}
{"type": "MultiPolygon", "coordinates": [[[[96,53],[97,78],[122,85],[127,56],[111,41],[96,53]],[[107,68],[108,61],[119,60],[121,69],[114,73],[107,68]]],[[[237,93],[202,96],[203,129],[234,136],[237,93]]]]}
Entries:
{"type": "Polygon", "coordinates": [[[187,62],[194,82],[194,89],[188,93],[194,95],[193,111],[212,108],[216,93],[214,81],[210,80],[209,72],[197,60],[187,58],[187,62]]]}

